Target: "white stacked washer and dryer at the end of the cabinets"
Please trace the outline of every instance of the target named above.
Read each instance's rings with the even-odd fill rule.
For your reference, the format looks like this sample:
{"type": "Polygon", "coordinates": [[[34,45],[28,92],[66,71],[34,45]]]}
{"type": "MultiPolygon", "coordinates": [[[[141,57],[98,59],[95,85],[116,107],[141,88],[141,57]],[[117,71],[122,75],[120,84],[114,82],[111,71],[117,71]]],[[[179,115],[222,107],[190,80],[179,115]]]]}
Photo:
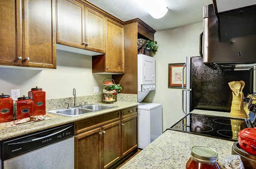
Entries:
{"type": "Polygon", "coordinates": [[[144,149],[163,133],[162,104],[142,103],[155,90],[155,59],[138,55],[138,147],[144,149]]]}

